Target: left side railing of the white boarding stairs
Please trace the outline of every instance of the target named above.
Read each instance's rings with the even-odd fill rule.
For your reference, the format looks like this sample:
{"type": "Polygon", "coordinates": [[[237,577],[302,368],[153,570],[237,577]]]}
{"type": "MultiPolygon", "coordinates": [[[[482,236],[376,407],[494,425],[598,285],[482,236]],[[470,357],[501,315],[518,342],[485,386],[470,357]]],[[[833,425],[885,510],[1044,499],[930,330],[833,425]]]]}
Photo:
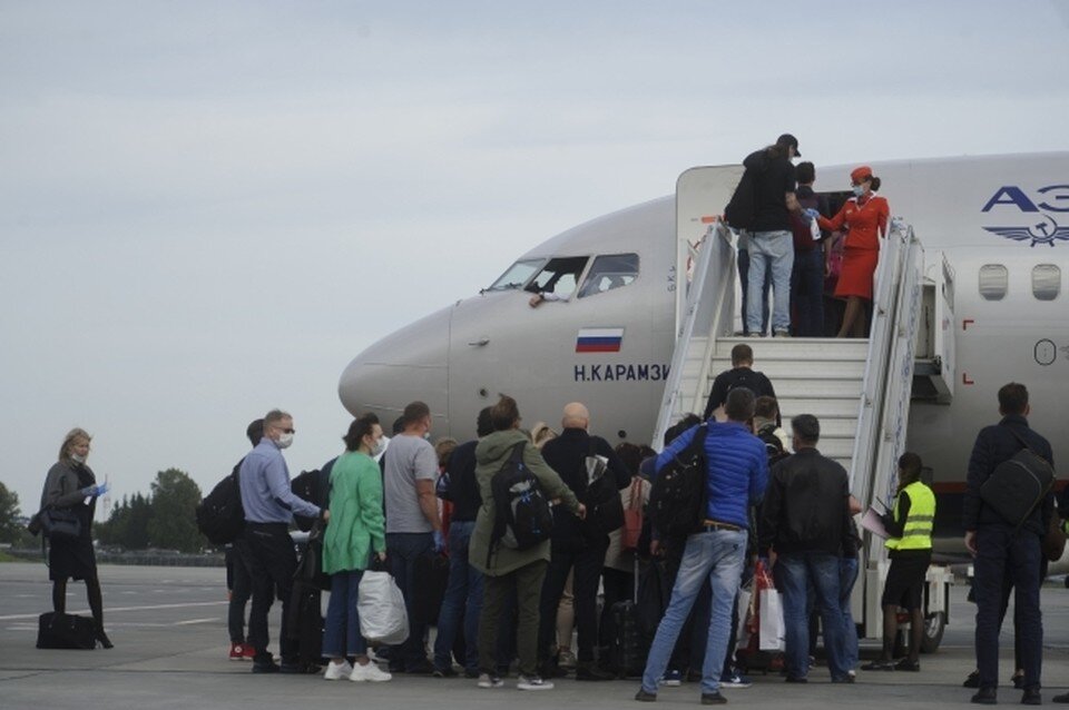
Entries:
{"type": "MultiPolygon", "coordinates": [[[[714,335],[724,321],[724,313],[730,318],[734,302],[735,250],[732,247],[732,233],[720,220],[709,225],[699,243],[697,260],[694,265],[693,278],[687,288],[686,312],[676,336],[676,345],[671,353],[671,364],[668,377],[665,379],[665,394],[661,398],[660,411],[657,414],[657,425],[654,428],[651,446],[660,451],[665,432],[673,425],[677,405],[686,396],[681,392],[684,382],[684,366],[695,333],[707,333],[709,341],[706,349],[712,346],[714,335]],[[706,298],[709,280],[713,275],[719,275],[718,288],[706,298]],[[727,303],[725,303],[725,300],[727,303]]],[[[708,352],[704,358],[709,359],[708,352]]],[[[703,365],[707,371],[708,365],[703,365]]],[[[699,381],[699,386],[700,386],[699,381]]]]}

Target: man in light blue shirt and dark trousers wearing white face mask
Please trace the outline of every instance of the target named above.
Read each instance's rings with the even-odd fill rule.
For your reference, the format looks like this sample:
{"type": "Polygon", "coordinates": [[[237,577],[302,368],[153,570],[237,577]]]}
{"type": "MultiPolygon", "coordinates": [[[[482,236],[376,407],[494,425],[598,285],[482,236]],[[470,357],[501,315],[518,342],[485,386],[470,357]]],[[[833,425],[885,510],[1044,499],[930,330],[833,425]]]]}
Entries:
{"type": "Polygon", "coordinates": [[[296,643],[285,630],[290,622],[290,595],[297,556],[290,539],[293,514],[320,517],[326,521],[330,511],[320,510],[293,494],[290,469],[282,450],[293,443],[293,417],[281,410],[272,410],[264,417],[264,435],[245,455],[238,471],[242,506],[245,509],[245,530],[236,545],[253,579],[253,605],[248,612],[248,643],[255,649],[254,673],[301,673],[296,643]],[[277,590],[282,600],[282,632],[278,645],[282,665],[275,663],[267,650],[267,613],[277,590]]]}

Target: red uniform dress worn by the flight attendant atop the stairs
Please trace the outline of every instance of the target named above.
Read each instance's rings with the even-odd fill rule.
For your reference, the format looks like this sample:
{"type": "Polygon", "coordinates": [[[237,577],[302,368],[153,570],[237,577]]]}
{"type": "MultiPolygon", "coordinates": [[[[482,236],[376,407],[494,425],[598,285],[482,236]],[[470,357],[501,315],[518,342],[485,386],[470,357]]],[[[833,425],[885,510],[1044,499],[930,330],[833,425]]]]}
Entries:
{"type": "Polygon", "coordinates": [[[891,208],[887,200],[870,193],[867,198],[851,197],[838,214],[817,217],[821,229],[840,231],[846,228],[843,270],[835,285],[835,297],[861,296],[872,300],[872,278],[880,259],[880,235],[886,231],[891,208]]]}

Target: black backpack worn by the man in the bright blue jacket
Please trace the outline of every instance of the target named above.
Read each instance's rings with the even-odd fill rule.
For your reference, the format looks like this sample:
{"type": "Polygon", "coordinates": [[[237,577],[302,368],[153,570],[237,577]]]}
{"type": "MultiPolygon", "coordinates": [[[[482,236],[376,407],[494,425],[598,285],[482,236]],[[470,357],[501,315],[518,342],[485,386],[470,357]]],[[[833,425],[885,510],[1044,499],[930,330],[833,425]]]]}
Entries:
{"type": "Polygon", "coordinates": [[[705,520],[705,435],[708,424],[698,426],[690,445],[679,452],[654,479],[647,516],[661,535],[689,535],[705,520]]]}

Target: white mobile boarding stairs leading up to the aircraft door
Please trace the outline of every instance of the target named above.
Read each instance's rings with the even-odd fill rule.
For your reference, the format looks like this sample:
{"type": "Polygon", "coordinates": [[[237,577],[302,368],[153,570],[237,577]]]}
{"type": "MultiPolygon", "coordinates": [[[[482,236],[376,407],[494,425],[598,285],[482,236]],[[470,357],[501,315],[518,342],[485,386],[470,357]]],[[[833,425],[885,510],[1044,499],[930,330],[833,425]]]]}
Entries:
{"type": "Polygon", "coordinates": [[[893,220],[881,250],[869,338],[738,337],[735,329],[734,235],[712,224],[695,248],[679,337],[654,441],[689,412],[702,413],[713,379],[730,368],[738,343],[754,351],[754,369],[768,376],[779,411],[821,421],[820,450],[850,473],[865,505],[892,497],[904,450],[921,324],[923,249],[911,227],[893,220]]]}

